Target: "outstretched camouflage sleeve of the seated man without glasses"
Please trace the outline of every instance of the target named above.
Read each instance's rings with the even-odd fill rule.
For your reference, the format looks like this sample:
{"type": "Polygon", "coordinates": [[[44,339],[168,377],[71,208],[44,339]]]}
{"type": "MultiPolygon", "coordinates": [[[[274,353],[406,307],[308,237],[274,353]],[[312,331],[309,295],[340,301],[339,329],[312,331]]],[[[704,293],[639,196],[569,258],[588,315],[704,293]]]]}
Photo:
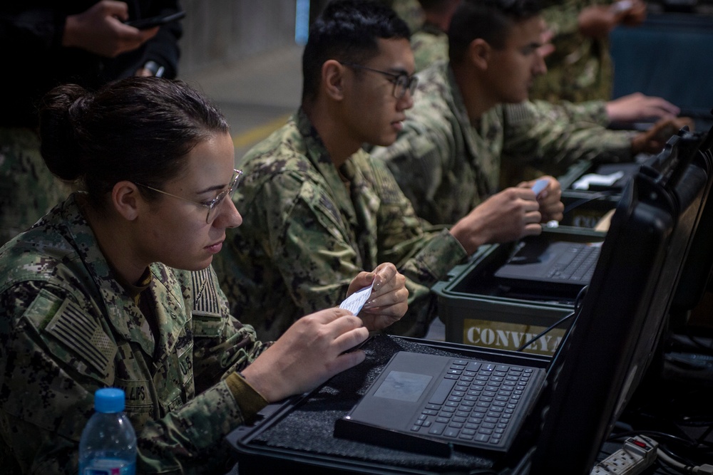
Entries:
{"type": "MultiPolygon", "coordinates": [[[[540,104],[541,105],[541,104],[540,104]]],[[[506,105],[503,155],[558,176],[578,160],[632,160],[628,132],[607,130],[585,121],[570,121],[535,103],[506,105]]]]}

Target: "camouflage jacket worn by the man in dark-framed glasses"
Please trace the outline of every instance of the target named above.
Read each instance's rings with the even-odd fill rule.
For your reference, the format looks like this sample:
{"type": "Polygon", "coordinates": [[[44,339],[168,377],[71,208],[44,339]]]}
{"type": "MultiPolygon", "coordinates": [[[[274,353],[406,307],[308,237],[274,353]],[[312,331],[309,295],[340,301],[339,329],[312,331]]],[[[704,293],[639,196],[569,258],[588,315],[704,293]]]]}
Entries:
{"type": "Polygon", "coordinates": [[[426,334],[435,315],[430,287],[466,252],[447,230],[424,230],[383,163],[359,150],[337,170],[299,110],[247,153],[243,170],[235,198],[243,223],[227,230],[214,266],[260,338],[338,306],[357,273],[383,262],[399,268],[409,289],[408,313],[386,330],[426,334]]]}

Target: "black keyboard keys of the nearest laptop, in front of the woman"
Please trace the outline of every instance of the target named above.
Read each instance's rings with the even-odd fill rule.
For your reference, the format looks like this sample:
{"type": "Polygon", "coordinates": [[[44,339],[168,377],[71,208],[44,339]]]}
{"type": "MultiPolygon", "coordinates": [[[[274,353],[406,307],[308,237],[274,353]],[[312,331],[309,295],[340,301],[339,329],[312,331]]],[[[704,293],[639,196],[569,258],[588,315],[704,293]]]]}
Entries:
{"type": "Polygon", "coordinates": [[[411,432],[485,449],[507,447],[527,408],[538,370],[453,360],[411,432]],[[511,429],[512,428],[512,429],[511,429]]]}

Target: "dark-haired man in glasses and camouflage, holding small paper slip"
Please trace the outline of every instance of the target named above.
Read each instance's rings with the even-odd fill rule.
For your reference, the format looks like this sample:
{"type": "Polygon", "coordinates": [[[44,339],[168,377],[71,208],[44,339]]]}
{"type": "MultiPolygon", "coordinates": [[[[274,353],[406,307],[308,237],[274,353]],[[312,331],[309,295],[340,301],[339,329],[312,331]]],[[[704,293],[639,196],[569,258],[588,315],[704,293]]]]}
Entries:
{"type": "MultiPolygon", "coordinates": [[[[485,238],[473,216],[424,227],[361,148],[394,142],[413,105],[409,29],[377,2],[333,1],[312,25],[302,65],[302,107],[241,164],[244,220],[213,261],[221,286],[241,321],[272,338],[308,308],[337,306],[355,272],[392,262],[406,276],[409,311],[389,331],[424,336],[436,310],[431,286],[485,238]]],[[[508,214],[503,240],[540,232],[530,189],[498,212],[508,214]]],[[[360,315],[378,310],[367,301],[360,315]]]]}

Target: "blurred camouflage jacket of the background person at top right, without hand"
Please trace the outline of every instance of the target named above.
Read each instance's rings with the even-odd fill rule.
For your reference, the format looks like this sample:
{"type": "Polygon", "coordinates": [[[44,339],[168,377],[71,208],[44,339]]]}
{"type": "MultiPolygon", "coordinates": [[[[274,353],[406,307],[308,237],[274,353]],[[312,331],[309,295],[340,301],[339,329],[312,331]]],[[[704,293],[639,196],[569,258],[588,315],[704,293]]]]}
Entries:
{"type": "Polygon", "coordinates": [[[610,100],[613,69],[608,38],[588,38],[579,32],[578,16],[587,6],[610,0],[548,0],[542,16],[553,31],[555,51],[545,58],[548,72],[535,78],[530,98],[550,100],[610,100]]]}

